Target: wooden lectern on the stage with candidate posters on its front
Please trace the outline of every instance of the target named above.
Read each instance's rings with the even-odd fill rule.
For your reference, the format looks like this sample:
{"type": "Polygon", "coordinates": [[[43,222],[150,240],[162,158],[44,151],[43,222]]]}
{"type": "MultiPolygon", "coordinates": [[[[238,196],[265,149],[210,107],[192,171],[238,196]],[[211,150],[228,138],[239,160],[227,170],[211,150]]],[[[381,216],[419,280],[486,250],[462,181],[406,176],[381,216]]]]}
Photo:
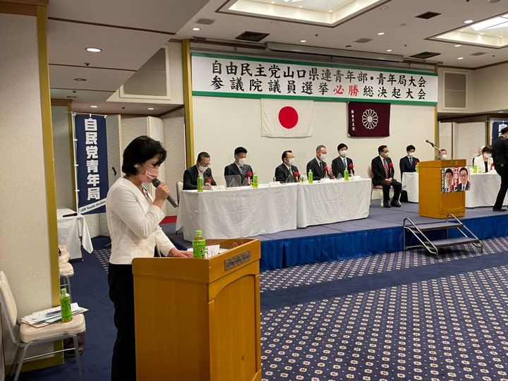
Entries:
{"type": "Polygon", "coordinates": [[[466,214],[465,192],[441,192],[441,169],[466,167],[466,160],[433,160],[418,163],[418,212],[424,217],[446,218],[466,214]]]}

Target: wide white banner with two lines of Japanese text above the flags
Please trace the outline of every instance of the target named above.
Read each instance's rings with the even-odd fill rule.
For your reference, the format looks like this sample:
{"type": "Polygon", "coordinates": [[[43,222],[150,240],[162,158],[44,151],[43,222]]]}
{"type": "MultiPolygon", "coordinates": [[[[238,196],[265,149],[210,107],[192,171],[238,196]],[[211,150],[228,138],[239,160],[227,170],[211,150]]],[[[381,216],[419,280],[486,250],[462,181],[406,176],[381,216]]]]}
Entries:
{"type": "Polygon", "coordinates": [[[437,104],[435,73],[193,53],[193,95],[437,104]]]}

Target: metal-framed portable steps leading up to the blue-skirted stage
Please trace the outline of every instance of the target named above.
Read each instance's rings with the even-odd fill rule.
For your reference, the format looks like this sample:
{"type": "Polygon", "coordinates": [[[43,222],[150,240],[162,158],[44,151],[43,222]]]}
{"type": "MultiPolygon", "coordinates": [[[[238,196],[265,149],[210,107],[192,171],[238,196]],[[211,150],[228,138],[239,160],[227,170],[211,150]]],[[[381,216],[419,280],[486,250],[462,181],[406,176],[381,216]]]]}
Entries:
{"type": "Polygon", "coordinates": [[[440,248],[472,244],[477,248],[480,248],[480,252],[483,251],[483,243],[480,241],[480,238],[475,236],[473,232],[469,230],[467,226],[459,221],[459,219],[457,219],[453,214],[448,214],[446,221],[420,225],[415,224],[409,218],[405,218],[403,226],[404,250],[408,250],[410,248],[425,248],[425,250],[427,250],[430,254],[437,255],[440,248]],[[450,229],[456,229],[456,231],[459,231],[462,236],[449,238],[450,229]],[[425,235],[425,231],[439,230],[446,231],[447,238],[436,239],[432,241],[430,238],[428,238],[428,236],[425,235]],[[420,242],[420,244],[415,246],[406,246],[406,233],[411,234],[414,238],[416,238],[418,242],[420,242]]]}

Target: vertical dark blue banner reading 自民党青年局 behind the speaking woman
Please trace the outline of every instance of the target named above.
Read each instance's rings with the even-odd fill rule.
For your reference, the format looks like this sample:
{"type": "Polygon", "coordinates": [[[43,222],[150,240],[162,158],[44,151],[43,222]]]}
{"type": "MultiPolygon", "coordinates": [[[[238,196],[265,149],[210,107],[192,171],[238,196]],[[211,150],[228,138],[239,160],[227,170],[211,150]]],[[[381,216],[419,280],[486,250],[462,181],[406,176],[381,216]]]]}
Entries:
{"type": "Polygon", "coordinates": [[[77,140],[78,212],[104,213],[109,189],[106,117],[75,115],[74,128],[77,140]]]}

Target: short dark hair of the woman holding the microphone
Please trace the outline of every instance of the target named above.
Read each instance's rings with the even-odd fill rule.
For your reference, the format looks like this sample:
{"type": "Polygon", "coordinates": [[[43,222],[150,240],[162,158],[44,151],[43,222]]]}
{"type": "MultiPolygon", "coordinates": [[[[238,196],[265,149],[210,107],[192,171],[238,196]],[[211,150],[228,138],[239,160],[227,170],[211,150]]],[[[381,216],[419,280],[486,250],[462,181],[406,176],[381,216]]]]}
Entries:
{"type": "Polygon", "coordinates": [[[131,175],[137,174],[138,169],[134,167],[135,164],[144,163],[157,155],[159,155],[159,161],[156,165],[160,165],[167,155],[162,144],[150,136],[138,136],[123,151],[122,172],[131,175]]]}

